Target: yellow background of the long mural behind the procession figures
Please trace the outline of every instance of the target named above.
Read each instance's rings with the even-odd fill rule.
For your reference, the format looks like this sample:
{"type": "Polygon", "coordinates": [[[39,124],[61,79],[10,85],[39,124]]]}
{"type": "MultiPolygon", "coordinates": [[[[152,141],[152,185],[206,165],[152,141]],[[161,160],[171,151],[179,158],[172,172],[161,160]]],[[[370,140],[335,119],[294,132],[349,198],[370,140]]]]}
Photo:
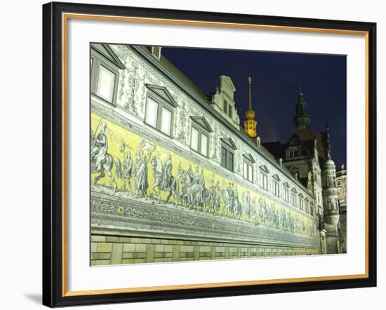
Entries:
{"type": "MultiPolygon", "coordinates": [[[[157,145],[152,140],[145,139],[134,132],[117,126],[117,124],[107,119],[102,119],[96,114],[92,114],[91,116],[92,133],[99,130],[101,123],[107,125],[107,152],[119,160],[121,172],[124,173],[124,159],[128,153],[131,154],[133,161],[130,188],[128,185],[128,177],[126,176],[126,189],[124,189],[124,175],[119,177],[117,167],[113,166],[112,168],[114,179],[117,182],[118,192],[126,192],[128,197],[136,198],[140,201],[146,199],[149,203],[159,201],[159,198],[161,198],[161,201],[165,201],[170,191],[160,191],[159,187],[153,189],[155,183],[154,170],[161,175],[161,179],[163,177],[160,166],[157,165],[157,167],[154,168],[156,161],[153,159],[159,159],[158,163],[164,166],[166,161],[168,161],[168,156],[171,156],[171,175],[175,178],[175,182],[178,183],[177,198],[175,194],[172,193],[170,201],[167,204],[171,208],[177,203],[178,205],[184,205],[189,210],[198,210],[199,212],[236,218],[237,220],[265,225],[275,229],[291,231],[295,234],[303,234],[306,236],[315,235],[314,219],[312,217],[263,196],[258,192],[257,186],[255,187],[255,191],[251,191],[250,188],[246,187],[246,184],[228,180],[218,172],[203,168],[199,163],[192,161],[192,157],[188,159],[185,156],[180,156],[180,154],[176,154],[165,147],[157,145]],[[135,166],[138,166],[139,162],[143,161],[145,156],[147,161],[148,186],[144,195],[141,191],[138,192],[136,188],[135,166]],[[195,175],[194,180],[198,180],[201,177],[201,169],[204,175],[204,187],[198,186],[197,188],[199,188],[199,190],[193,191],[193,196],[189,196],[189,188],[187,188],[187,185],[184,187],[183,181],[186,175],[189,174],[189,166],[192,174],[195,175]],[[160,193],[159,196],[158,193],[160,193]]],[[[94,183],[95,177],[99,174],[100,173],[91,174],[92,183],[94,183]]],[[[194,184],[190,184],[190,187],[192,187],[192,185],[194,184]]],[[[98,181],[98,186],[112,189],[113,181],[108,175],[105,175],[105,177],[102,177],[98,181]]],[[[260,189],[260,191],[262,190],[260,189]]]]}

